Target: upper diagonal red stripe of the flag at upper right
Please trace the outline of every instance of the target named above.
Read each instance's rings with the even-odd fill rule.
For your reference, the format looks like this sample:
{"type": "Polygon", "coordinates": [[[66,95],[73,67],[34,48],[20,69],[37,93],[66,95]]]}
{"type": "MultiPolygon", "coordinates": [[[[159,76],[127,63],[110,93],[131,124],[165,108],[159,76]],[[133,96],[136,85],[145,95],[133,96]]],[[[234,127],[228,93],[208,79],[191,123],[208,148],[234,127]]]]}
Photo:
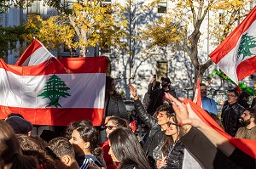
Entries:
{"type": "Polygon", "coordinates": [[[234,31],[230,33],[228,37],[224,39],[223,42],[221,42],[218,45],[218,48],[216,48],[212,54],[210,54],[210,58],[215,64],[218,64],[218,62],[224,58],[226,54],[228,54],[233,48],[236,47],[237,42],[239,38],[241,37],[241,34],[244,31],[247,31],[247,29],[252,25],[253,21],[256,20],[256,7],[253,8],[253,10],[247,14],[247,17],[245,20],[241,22],[240,25],[236,27],[234,31]]]}

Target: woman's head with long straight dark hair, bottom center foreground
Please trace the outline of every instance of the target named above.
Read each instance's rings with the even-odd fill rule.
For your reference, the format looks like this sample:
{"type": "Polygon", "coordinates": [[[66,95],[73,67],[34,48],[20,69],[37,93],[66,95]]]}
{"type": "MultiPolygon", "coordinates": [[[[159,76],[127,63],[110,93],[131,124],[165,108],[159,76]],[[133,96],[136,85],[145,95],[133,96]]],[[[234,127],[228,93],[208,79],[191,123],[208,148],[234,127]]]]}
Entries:
{"type": "Polygon", "coordinates": [[[109,155],[119,162],[119,169],[150,169],[143,148],[135,134],[129,128],[119,127],[111,132],[109,138],[109,155]]]}

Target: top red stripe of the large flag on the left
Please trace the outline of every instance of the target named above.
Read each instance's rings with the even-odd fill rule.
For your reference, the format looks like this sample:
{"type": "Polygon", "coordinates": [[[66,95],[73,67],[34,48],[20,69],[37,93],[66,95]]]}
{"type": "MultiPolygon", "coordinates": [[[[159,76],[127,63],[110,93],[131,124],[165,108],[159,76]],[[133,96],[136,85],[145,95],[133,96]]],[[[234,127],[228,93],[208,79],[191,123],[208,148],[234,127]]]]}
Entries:
{"type": "Polygon", "coordinates": [[[40,65],[17,66],[8,65],[0,59],[0,68],[11,71],[20,76],[40,76],[48,74],[74,74],[74,73],[106,73],[108,59],[102,57],[91,58],[51,58],[40,65]],[[95,66],[96,65],[96,66],[95,66]]]}

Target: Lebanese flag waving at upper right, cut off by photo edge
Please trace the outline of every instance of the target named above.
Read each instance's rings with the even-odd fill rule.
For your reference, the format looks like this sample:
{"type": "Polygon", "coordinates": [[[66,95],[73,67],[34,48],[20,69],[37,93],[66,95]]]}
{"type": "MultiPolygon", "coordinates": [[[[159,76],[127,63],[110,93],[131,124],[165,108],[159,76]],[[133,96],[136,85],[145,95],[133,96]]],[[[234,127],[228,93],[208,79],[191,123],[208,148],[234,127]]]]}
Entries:
{"type": "Polygon", "coordinates": [[[256,72],[256,7],[218,45],[210,58],[233,82],[256,72]]]}

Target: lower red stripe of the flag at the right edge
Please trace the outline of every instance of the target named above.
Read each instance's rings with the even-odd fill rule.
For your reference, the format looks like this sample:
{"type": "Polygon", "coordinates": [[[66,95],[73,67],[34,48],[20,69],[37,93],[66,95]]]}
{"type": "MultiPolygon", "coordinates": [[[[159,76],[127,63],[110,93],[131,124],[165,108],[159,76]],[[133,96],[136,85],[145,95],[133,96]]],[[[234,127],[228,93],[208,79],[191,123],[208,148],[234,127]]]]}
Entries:
{"type": "Polygon", "coordinates": [[[242,61],[241,64],[239,64],[236,68],[236,74],[239,81],[241,81],[241,79],[249,75],[252,75],[255,72],[256,72],[256,56],[242,61]]]}

